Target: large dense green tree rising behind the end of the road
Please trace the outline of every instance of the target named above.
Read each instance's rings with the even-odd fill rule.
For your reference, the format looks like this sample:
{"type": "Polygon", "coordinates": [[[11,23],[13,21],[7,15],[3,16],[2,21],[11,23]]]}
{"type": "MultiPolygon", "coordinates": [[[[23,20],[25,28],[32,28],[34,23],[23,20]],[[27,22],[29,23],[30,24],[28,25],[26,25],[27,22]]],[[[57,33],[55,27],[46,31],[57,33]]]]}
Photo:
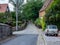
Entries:
{"type": "Polygon", "coordinates": [[[23,7],[23,15],[26,20],[36,20],[39,17],[39,10],[43,5],[42,0],[29,1],[23,7]]]}

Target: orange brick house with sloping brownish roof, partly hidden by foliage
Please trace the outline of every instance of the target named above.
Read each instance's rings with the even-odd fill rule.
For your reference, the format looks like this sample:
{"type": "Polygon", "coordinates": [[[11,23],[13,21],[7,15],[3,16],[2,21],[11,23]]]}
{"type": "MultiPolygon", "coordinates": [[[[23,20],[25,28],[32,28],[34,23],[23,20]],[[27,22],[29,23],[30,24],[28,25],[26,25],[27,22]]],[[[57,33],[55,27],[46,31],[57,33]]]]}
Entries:
{"type": "Polygon", "coordinates": [[[39,11],[39,17],[43,17],[46,14],[46,9],[50,6],[53,0],[45,0],[43,7],[39,11]]]}

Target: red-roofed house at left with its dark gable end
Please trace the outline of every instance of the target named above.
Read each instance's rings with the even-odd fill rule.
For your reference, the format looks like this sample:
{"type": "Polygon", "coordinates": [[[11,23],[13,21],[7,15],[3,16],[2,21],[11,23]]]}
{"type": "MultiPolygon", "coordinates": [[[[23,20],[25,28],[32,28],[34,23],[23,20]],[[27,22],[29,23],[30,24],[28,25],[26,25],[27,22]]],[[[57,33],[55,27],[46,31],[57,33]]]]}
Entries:
{"type": "Polygon", "coordinates": [[[8,4],[0,4],[0,13],[4,13],[4,18],[10,17],[10,10],[8,4]]]}

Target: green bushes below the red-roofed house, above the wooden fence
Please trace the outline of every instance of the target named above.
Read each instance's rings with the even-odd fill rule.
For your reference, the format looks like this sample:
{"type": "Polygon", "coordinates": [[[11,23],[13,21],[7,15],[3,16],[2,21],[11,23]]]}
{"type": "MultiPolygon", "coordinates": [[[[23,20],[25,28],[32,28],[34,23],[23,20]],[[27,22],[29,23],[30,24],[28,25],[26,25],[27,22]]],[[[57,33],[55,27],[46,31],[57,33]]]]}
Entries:
{"type": "Polygon", "coordinates": [[[0,13],[0,23],[7,23],[11,21],[10,13],[0,13]]]}

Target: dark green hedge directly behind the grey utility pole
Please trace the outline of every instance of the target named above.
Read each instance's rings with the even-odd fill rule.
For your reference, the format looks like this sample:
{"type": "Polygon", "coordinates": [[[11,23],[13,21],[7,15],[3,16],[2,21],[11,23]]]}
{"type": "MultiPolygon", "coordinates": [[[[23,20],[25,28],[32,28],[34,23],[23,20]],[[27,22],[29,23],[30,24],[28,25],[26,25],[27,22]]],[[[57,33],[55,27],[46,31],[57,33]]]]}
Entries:
{"type": "MultiPolygon", "coordinates": [[[[16,26],[16,14],[15,12],[11,12],[12,15],[12,26],[16,26]]],[[[25,23],[26,21],[23,20],[23,16],[21,16],[21,14],[18,15],[18,25],[21,26],[23,23],[25,23]]]]}

